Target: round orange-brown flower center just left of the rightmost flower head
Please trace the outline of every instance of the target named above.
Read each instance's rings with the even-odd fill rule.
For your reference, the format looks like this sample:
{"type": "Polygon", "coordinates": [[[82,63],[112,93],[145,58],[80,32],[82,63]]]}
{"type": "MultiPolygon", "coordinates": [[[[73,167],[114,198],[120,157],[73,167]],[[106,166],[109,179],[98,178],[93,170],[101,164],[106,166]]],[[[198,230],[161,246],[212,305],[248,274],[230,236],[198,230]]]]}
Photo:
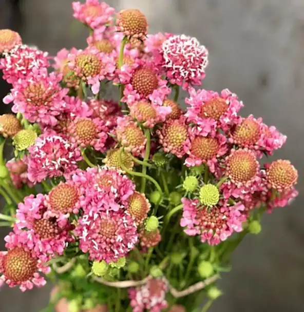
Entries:
{"type": "Polygon", "coordinates": [[[248,149],[236,150],[227,159],[226,170],[233,181],[249,182],[256,176],[258,170],[255,154],[248,149]]]}

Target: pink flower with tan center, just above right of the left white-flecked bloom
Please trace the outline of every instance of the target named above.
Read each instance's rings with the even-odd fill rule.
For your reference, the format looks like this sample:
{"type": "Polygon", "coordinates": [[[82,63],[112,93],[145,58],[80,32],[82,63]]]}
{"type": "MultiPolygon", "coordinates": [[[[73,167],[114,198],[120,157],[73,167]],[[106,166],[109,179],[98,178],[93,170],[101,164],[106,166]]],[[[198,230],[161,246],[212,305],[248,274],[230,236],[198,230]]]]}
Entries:
{"type": "Polygon", "coordinates": [[[92,146],[98,151],[107,149],[108,127],[100,118],[76,118],[68,126],[70,141],[80,147],[92,146]]]}

